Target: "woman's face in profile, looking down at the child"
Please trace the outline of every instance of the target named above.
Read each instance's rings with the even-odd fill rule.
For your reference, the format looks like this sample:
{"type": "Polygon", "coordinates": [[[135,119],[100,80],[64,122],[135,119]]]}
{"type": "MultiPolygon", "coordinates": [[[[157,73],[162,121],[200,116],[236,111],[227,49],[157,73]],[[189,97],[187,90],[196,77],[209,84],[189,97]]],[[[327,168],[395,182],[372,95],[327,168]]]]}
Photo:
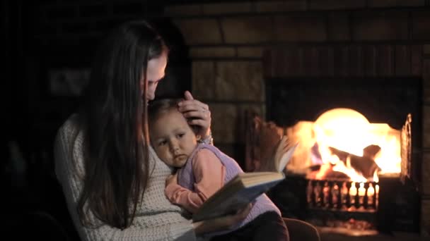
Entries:
{"type": "MultiPolygon", "coordinates": [[[[156,97],[156,89],[158,82],[164,78],[164,70],[167,66],[167,55],[161,54],[158,58],[153,58],[148,61],[146,69],[146,78],[148,79],[148,89],[146,89],[146,101],[153,100],[156,97]]],[[[144,92],[144,75],[140,80],[141,92],[144,92]]]]}

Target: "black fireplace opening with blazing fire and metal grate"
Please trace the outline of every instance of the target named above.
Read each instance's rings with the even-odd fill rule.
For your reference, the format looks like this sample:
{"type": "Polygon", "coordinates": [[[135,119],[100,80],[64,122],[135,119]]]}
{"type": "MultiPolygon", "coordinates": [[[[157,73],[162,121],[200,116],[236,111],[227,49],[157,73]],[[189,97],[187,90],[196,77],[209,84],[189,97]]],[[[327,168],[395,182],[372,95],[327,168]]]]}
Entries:
{"type": "MultiPolygon", "coordinates": [[[[297,131],[298,125],[308,125],[303,130],[308,130],[314,141],[318,139],[309,142],[307,171],[290,172],[284,183],[269,192],[284,216],[322,227],[418,232],[421,162],[416,151],[422,143],[421,79],[272,78],[266,80],[266,91],[267,121],[289,134],[297,131]],[[327,116],[336,116],[333,110],[351,118],[327,121],[327,116]],[[403,182],[400,139],[409,114],[412,155],[410,175],[403,182]],[[341,123],[347,123],[344,129],[341,123]],[[378,136],[385,142],[377,142],[376,133],[383,133],[378,136]],[[335,134],[340,142],[330,140],[335,134]],[[373,138],[373,142],[365,142],[366,138],[373,138]],[[351,141],[356,146],[349,148],[346,144],[351,141]],[[394,165],[384,166],[380,159],[384,155],[394,165]],[[342,170],[354,165],[349,170],[355,173],[342,170]],[[331,175],[321,168],[331,168],[331,175]]],[[[305,158],[300,155],[295,156],[296,162],[303,164],[305,158]]]]}

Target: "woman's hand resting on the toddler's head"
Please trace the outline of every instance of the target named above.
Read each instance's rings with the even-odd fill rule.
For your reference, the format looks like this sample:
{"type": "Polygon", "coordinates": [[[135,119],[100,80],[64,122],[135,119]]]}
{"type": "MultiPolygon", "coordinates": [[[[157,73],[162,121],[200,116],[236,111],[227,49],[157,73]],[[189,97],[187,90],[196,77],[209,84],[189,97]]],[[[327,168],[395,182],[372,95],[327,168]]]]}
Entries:
{"type": "Polygon", "coordinates": [[[189,91],[185,92],[185,100],[179,103],[179,111],[185,118],[190,119],[190,125],[198,125],[199,133],[203,139],[210,133],[211,111],[209,106],[192,97],[189,91]]]}

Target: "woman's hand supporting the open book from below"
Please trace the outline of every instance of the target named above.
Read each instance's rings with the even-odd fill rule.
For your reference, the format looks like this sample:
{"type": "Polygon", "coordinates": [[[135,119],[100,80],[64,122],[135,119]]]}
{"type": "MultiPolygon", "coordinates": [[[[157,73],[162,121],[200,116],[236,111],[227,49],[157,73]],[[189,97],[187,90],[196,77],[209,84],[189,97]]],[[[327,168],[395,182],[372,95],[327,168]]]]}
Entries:
{"type": "Polygon", "coordinates": [[[196,233],[196,235],[201,235],[203,233],[231,229],[240,221],[243,221],[243,219],[248,216],[251,209],[252,204],[248,204],[248,206],[245,206],[245,208],[239,210],[236,214],[192,223],[194,225],[194,233],[196,233]]]}

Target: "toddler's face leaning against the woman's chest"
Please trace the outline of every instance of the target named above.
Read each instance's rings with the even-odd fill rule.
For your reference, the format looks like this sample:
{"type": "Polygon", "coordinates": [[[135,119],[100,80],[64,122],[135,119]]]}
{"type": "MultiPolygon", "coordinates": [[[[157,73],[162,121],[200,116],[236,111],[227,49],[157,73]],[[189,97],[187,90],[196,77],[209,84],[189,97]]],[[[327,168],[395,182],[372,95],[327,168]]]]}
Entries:
{"type": "Polygon", "coordinates": [[[196,135],[176,109],[161,114],[151,124],[150,135],[158,157],[169,166],[184,166],[197,146],[196,135]]]}

